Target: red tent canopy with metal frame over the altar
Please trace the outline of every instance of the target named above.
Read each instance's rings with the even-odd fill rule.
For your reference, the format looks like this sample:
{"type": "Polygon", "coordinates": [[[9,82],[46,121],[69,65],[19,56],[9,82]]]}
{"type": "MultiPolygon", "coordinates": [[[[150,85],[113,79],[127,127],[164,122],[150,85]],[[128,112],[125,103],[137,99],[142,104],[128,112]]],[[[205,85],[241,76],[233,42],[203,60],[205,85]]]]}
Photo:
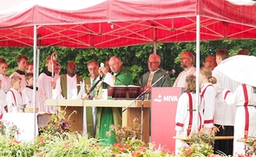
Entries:
{"type": "MultiPolygon", "coordinates": [[[[2,0],[0,47],[124,47],[256,37],[256,4],[235,0],[2,0]],[[240,2],[240,1],[238,1],[240,2]]],[[[244,0],[246,1],[246,0],[244,0]]]]}

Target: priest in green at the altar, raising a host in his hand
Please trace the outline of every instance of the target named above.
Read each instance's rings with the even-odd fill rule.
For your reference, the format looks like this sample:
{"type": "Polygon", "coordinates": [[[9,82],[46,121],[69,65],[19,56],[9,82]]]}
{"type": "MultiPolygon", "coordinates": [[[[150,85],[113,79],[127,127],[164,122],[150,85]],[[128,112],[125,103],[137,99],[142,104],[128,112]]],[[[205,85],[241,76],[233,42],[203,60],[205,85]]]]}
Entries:
{"type": "MultiPolygon", "coordinates": [[[[122,62],[118,57],[114,56],[110,58],[109,67],[111,72],[108,72],[106,67],[99,68],[101,75],[104,75],[104,88],[107,88],[109,85],[133,84],[131,73],[122,66],[122,62]]],[[[104,141],[107,146],[112,145],[115,143],[115,137],[107,136],[106,133],[109,131],[111,124],[115,125],[115,130],[118,129],[118,126],[121,126],[121,108],[104,107],[97,108],[97,111],[96,137],[100,141],[104,141]]]]}

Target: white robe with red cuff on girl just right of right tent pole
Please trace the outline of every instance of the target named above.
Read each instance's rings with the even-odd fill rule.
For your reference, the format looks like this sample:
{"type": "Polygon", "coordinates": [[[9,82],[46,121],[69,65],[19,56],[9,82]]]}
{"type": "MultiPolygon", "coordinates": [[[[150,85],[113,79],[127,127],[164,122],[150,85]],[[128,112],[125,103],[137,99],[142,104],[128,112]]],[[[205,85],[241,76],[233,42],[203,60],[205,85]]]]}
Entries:
{"type": "Polygon", "coordinates": [[[204,101],[204,127],[212,128],[216,97],[216,91],[213,87],[213,84],[207,83],[201,85],[200,96],[203,97],[204,101]]]}

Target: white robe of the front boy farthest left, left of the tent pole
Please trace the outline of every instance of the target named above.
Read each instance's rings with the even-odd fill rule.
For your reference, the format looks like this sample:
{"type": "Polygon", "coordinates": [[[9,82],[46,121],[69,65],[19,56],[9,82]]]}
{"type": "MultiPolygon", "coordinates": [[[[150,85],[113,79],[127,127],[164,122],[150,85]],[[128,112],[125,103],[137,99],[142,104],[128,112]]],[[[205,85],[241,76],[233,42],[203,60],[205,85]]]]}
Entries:
{"type": "Polygon", "coordinates": [[[8,112],[12,112],[13,107],[19,107],[23,104],[23,98],[21,91],[16,91],[10,88],[10,91],[6,94],[6,104],[8,107],[8,112]]]}

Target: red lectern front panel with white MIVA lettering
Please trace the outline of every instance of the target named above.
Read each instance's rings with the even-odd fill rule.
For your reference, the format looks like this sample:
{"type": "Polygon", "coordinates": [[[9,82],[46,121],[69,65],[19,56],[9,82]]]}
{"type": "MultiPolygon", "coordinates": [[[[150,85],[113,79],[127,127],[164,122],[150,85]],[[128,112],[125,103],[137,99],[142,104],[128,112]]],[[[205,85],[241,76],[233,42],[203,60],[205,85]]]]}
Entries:
{"type": "Polygon", "coordinates": [[[154,87],[151,93],[151,142],[175,152],[175,115],[183,88],[154,87]]]}

